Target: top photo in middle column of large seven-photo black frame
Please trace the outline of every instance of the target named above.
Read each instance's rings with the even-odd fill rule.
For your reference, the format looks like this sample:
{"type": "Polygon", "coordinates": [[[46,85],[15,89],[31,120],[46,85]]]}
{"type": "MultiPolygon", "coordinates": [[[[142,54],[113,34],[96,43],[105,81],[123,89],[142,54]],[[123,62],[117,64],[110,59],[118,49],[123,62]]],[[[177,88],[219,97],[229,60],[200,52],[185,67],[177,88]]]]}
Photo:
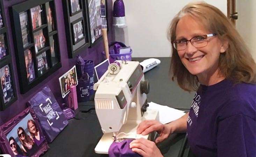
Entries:
{"type": "Polygon", "coordinates": [[[33,29],[36,29],[42,25],[42,11],[42,6],[36,6],[30,9],[33,29]]]}

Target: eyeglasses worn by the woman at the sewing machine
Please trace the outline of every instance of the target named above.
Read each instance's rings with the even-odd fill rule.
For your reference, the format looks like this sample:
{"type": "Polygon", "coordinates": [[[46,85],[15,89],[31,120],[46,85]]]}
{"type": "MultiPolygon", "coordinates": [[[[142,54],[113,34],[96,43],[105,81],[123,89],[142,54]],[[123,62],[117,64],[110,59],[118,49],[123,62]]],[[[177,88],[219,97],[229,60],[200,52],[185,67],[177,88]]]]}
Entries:
{"type": "Polygon", "coordinates": [[[187,40],[187,39],[174,40],[174,42],[172,44],[177,51],[185,50],[188,45],[188,42],[190,42],[196,48],[201,48],[201,47],[205,47],[208,44],[209,41],[206,40],[207,37],[212,37],[212,36],[216,36],[216,35],[217,35],[216,33],[206,34],[206,35],[198,35],[198,36],[191,38],[190,40],[187,40]]]}

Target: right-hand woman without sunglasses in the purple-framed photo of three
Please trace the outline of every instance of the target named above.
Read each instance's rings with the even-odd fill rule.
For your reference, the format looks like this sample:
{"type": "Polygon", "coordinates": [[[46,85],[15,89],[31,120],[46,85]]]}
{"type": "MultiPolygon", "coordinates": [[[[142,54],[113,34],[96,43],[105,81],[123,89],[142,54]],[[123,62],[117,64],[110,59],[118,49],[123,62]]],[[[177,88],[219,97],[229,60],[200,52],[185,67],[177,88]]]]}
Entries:
{"type": "Polygon", "coordinates": [[[40,135],[39,129],[36,127],[36,123],[32,119],[28,120],[28,130],[36,145],[39,146],[44,141],[44,136],[40,135]]]}

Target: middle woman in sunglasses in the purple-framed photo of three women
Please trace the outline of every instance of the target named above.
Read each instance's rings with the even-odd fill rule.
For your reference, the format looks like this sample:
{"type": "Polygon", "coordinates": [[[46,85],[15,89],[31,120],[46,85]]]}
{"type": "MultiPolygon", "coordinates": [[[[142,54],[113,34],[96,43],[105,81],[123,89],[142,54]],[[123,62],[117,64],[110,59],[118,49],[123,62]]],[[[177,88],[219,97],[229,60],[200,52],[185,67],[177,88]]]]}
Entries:
{"type": "Polygon", "coordinates": [[[21,142],[21,149],[26,152],[28,155],[33,154],[37,150],[37,145],[33,141],[33,138],[27,133],[22,127],[19,127],[17,130],[17,134],[19,136],[19,140],[21,142]]]}

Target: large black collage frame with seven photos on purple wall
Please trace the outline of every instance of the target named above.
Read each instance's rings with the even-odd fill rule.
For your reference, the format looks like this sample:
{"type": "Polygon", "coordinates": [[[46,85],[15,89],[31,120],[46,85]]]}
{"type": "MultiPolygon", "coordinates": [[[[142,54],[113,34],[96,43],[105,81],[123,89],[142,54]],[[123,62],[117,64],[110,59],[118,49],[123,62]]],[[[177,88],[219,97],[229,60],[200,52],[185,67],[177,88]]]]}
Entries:
{"type": "MultiPolygon", "coordinates": [[[[50,51],[50,42],[49,38],[51,36],[55,36],[55,38],[58,38],[58,30],[57,30],[57,21],[56,21],[56,9],[55,9],[54,0],[28,0],[19,4],[16,4],[12,7],[10,7],[10,17],[12,21],[12,31],[13,31],[13,40],[14,43],[17,43],[14,45],[15,48],[15,55],[16,55],[16,64],[17,64],[17,71],[19,76],[19,82],[20,82],[20,92],[21,94],[24,94],[25,92],[29,91],[33,87],[35,87],[37,84],[41,83],[43,80],[45,80],[48,76],[56,72],[61,67],[61,58],[60,58],[60,51],[59,51],[59,39],[55,39],[55,43],[57,46],[55,46],[56,52],[59,53],[56,55],[58,57],[57,63],[52,64],[52,57],[51,57],[51,51],[50,51]],[[41,25],[38,25],[38,27],[32,28],[32,17],[31,17],[31,8],[40,6],[42,10],[40,12],[41,14],[41,25]],[[46,9],[49,9],[47,7],[51,7],[51,13],[52,13],[52,20],[54,21],[54,29],[49,29],[48,27],[52,28],[52,25],[49,26],[49,20],[47,19],[47,14],[49,14],[46,9]],[[30,43],[23,46],[24,40],[22,40],[22,30],[21,30],[21,23],[20,23],[20,14],[27,13],[28,16],[28,37],[31,39],[30,43]],[[36,40],[35,35],[37,32],[42,33],[45,39],[40,37],[39,43],[44,43],[41,48],[36,51],[36,40]],[[44,41],[43,41],[44,40],[44,41]],[[28,55],[26,57],[26,52],[29,50],[31,55],[28,55]],[[37,72],[37,58],[39,55],[42,55],[42,53],[46,54],[46,60],[47,66],[49,69],[47,69],[42,75],[38,74],[37,72]],[[29,58],[30,57],[30,58],[29,58]],[[29,58],[27,61],[26,59],[29,58]]],[[[28,52],[29,54],[29,52],[28,52]]],[[[56,60],[55,60],[56,61],[56,60]]]]}

